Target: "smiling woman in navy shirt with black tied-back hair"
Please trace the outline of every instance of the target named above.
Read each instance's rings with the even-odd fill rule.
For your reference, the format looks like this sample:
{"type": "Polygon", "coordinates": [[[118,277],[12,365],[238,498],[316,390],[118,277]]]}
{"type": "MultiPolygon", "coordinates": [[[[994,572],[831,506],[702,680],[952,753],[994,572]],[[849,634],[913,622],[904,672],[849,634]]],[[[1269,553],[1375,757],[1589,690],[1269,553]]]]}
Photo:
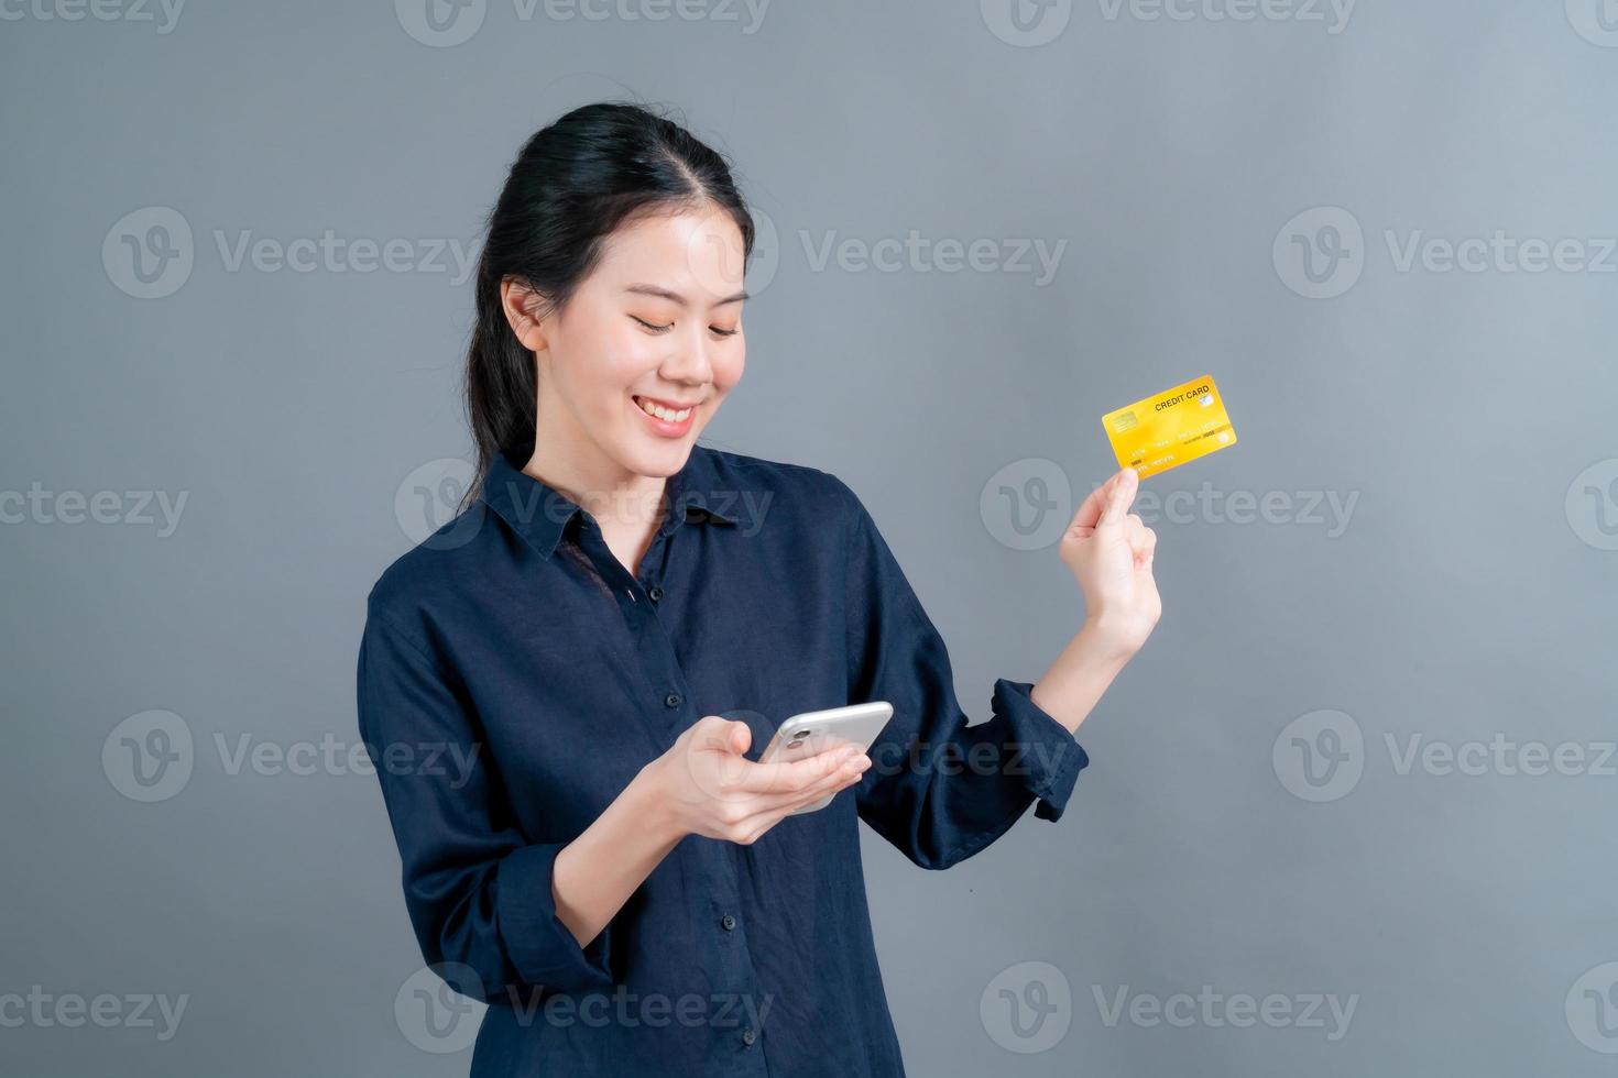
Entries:
{"type": "Polygon", "coordinates": [[[853,490],[696,441],[741,380],[752,236],[725,160],[621,103],[537,133],[490,215],[476,498],[377,582],[358,671],[422,955],[490,1004],[474,1075],[901,1075],[858,819],[948,868],[1060,818],[1158,617],[1125,470],[1061,540],[1084,627],[968,727],[853,490]],[[869,753],[757,763],[866,700],[869,753]]]}

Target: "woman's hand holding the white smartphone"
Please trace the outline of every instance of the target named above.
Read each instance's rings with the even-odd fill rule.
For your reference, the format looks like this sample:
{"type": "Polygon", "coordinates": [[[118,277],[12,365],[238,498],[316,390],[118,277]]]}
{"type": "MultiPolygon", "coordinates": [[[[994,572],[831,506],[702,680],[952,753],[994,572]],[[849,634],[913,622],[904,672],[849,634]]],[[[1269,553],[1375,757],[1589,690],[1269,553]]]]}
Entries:
{"type": "Polygon", "coordinates": [[[746,722],[709,714],[647,764],[680,836],[751,845],[794,808],[853,785],[870,766],[849,742],[791,763],[748,760],[751,745],[746,722]]]}

